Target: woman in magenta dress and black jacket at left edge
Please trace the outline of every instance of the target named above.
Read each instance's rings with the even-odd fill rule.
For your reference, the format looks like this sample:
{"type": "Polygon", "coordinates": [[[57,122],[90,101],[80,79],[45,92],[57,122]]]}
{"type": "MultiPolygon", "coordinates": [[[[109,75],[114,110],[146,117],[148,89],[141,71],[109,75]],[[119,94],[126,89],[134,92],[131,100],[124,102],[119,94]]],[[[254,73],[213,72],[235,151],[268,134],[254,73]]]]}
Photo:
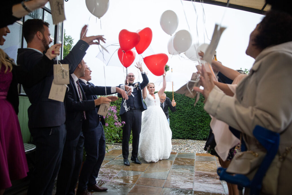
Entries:
{"type": "MultiPolygon", "coordinates": [[[[8,27],[0,28],[0,45],[10,33],[8,27]]],[[[51,70],[53,61],[60,54],[60,44],[51,46],[41,61],[28,72],[14,64],[0,49],[0,195],[11,187],[11,180],[27,176],[28,166],[18,122],[18,89],[22,83],[29,87],[39,82],[51,70]]]]}

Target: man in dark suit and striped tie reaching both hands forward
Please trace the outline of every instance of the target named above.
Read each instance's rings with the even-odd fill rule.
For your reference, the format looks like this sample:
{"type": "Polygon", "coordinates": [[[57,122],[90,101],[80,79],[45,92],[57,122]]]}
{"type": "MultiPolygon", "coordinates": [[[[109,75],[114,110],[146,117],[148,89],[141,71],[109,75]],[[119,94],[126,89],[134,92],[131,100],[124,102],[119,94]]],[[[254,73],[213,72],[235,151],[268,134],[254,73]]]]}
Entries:
{"type": "MultiPolygon", "coordinates": [[[[74,73],[70,75],[69,90],[66,92],[66,141],[63,150],[62,162],[57,180],[56,195],[75,195],[83,158],[84,136],[82,129],[87,123],[88,111],[94,111],[95,106],[117,100],[117,96],[100,97],[87,100],[86,95],[105,95],[120,93],[127,99],[126,92],[119,87],[93,87],[79,83],[79,78],[84,76],[85,64],[82,60],[74,73]]],[[[90,194],[87,190],[84,194],[90,194]]]]}

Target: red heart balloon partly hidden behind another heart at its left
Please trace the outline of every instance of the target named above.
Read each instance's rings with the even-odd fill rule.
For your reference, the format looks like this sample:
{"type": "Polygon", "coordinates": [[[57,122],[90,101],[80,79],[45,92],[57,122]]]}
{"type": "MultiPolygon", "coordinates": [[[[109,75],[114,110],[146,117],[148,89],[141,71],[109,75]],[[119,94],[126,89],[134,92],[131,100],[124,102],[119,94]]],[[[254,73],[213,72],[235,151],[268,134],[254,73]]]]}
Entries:
{"type": "Polygon", "coordinates": [[[147,27],[142,30],[138,30],[137,33],[140,35],[140,41],[135,48],[138,54],[142,54],[149,47],[152,41],[152,30],[147,27]]]}

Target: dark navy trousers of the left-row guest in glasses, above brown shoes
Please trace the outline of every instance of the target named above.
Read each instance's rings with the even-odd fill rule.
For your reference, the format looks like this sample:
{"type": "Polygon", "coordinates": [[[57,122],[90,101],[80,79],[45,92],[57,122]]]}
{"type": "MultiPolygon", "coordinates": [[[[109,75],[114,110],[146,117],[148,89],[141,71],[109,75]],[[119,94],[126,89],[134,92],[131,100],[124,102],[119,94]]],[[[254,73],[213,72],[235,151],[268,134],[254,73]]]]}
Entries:
{"type": "Polygon", "coordinates": [[[95,185],[98,172],[105,158],[105,133],[101,122],[96,128],[88,129],[84,134],[86,160],[83,163],[78,182],[78,191],[87,189],[87,185],[95,185]]]}

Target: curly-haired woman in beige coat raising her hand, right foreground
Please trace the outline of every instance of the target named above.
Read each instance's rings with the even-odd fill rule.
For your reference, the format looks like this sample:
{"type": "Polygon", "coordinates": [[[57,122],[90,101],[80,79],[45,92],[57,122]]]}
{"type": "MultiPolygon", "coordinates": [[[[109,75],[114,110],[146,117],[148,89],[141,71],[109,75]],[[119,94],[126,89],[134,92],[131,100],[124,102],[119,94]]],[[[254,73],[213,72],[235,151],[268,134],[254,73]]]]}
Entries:
{"type": "Polygon", "coordinates": [[[287,153],[287,156],[278,163],[281,166],[279,176],[273,180],[277,183],[277,194],[291,194],[291,13],[268,12],[251,33],[246,54],[255,58],[255,63],[249,75],[238,85],[236,97],[227,96],[214,86],[204,69],[201,76],[204,90],[197,87],[194,90],[205,96],[204,108],[208,113],[242,132],[248,150],[265,152],[252,134],[256,125],[280,133],[278,155],[287,153]]]}

